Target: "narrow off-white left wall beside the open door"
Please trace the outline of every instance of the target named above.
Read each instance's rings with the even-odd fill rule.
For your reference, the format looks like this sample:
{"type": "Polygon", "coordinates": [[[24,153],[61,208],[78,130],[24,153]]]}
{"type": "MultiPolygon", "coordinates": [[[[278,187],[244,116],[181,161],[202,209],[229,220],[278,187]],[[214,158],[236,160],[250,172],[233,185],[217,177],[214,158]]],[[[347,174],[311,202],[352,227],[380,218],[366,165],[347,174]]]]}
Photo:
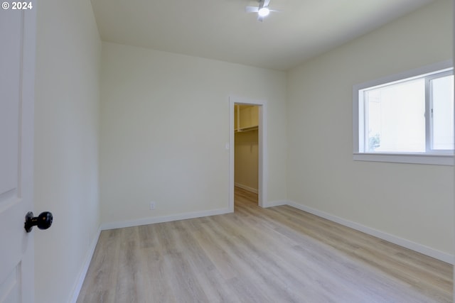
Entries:
{"type": "Polygon", "coordinates": [[[54,221],[33,231],[37,303],[70,301],[100,226],[100,52],[89,0],[38,1],[33,211],[54,221]]]}

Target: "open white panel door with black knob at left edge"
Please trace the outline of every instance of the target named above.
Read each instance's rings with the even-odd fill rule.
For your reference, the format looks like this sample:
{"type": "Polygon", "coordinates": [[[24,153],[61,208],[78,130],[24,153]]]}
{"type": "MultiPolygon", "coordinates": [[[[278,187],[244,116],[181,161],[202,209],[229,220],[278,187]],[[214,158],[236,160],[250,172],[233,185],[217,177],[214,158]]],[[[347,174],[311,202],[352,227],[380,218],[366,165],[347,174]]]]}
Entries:
{"type": "MultiPolygon", "coordinates": [[[[7,2],[3,2],[7,1],[7,2]]],[[[36,5],[0,8],[0,302],[33,300],[33,99],[36,5]]],[[[27,2],[28,3],[28,2],[27,2]]]]}

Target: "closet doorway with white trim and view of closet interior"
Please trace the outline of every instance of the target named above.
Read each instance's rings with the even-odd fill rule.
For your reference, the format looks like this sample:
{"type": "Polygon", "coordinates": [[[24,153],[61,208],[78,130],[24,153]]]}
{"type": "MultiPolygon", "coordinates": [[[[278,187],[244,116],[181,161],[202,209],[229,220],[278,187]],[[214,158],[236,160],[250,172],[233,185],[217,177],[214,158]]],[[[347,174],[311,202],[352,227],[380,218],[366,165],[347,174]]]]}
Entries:
{"type": "Polygon", "coordinates": [[[232,212],[236,188],[251,193],[250,197],[257,195],[259,206],[265,204],[265,113],[265,101],[230,97],[229,208],[232,212]]]}

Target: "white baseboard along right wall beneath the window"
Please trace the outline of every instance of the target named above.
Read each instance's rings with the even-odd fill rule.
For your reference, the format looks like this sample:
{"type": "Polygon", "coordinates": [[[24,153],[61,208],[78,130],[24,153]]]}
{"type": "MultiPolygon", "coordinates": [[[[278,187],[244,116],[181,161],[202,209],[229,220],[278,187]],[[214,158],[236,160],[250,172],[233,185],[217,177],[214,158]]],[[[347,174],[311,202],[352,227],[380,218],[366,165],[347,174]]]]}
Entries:
{"type": "Polygon", "coordinates": [[[319,211],[317,209],[312,209],[309,206],[304,206],[304,205],[298,204],[296,202],[289,201],[289,202],[287,202],[287,204],[289,206],[295,207],[296,209],[300,209],[302,211],[309,212],[310,214],[320,216],[321,218],[328,219],[330,221],[336,222],[336,223],[344,225],[344,226],[348,226],[357,231],[362,231],[363,233],[367,233],[370,236],[375,236],[382,240],[389,241],[389,242],[397,244],[399,246],[409,248],[410,250],[417,251],[417,253],[422,253],[424,255],[428,255],[429,257],[444,261],[444,262],[452,264],[452,265],[455,264],[455,256],[450,255],[449,253],[444,253],[444,252],[441,252],[434,248],[429,248],[428,246],[424,246],[419,243],[414,243],[414,242],[406,240],[404,238],[390,235],[390,233],[384,233],[384,232],[378,231],[374,228],[370,228],[368,226],[364,226],[362,224],[355,223],[353,221],[348,221],[348,220],[342,219],[338,216],[333,216],[331,214],[327,214],[326,212],[319,211]]]}

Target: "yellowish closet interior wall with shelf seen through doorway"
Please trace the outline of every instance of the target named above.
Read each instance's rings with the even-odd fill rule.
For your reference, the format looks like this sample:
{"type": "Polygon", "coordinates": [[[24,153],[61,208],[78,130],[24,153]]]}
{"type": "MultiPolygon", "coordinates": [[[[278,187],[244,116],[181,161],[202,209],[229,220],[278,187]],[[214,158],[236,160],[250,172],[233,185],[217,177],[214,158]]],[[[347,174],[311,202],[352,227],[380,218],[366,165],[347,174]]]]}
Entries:
{"type": "Polygon", "coordinates": [[[257,193],[259,106],[235,105],[235,186],[257,193]]]}

